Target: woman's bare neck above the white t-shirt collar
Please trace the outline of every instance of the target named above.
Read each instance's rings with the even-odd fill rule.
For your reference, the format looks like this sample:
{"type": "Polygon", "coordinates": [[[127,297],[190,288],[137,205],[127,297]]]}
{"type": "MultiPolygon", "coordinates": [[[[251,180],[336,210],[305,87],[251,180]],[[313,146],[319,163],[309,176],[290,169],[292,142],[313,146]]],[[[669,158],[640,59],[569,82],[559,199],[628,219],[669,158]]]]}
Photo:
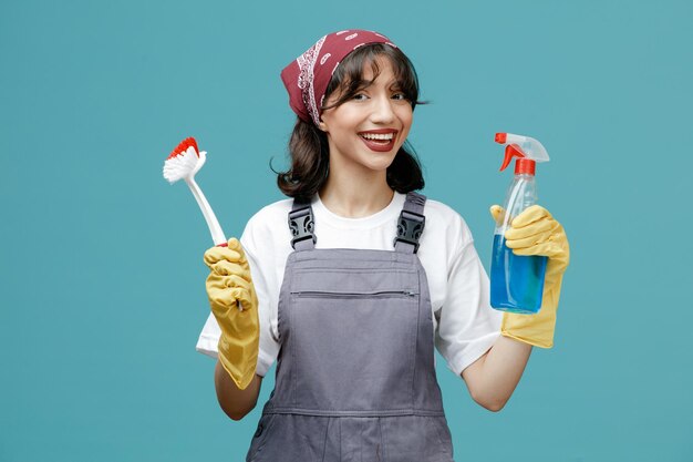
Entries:
{"type": "Polygon", "coordinates": [[[320,189],[320,201],[333,214],[345,218],[371,216],[387,207],[394,191],[385,181],[385,172],[376,175],[335,175],[330,172],[320,189]]]}

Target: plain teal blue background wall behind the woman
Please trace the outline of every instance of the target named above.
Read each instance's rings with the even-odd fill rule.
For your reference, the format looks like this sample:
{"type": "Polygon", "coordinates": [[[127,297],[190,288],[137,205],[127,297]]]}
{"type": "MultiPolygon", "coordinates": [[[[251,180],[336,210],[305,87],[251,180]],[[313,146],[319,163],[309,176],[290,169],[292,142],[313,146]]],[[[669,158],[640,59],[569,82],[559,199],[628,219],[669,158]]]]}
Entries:
{"type": "Polygon", "coordinates": [[[195,352],[211,245],[164,158],[194,135],[227,235],[282,198],[293,123],[279,71],[320,35],[387,34],[422,96],[424,193],[488,269],[494,133],[552,160],[541,203],[572,261],[556,347],[490,413],[438,357],[458,461],[692,461],[690,1],[0,4],[0,461],[245,458],[195,352]],[[685,186],[685,185],[689,186],[685,186]]]}

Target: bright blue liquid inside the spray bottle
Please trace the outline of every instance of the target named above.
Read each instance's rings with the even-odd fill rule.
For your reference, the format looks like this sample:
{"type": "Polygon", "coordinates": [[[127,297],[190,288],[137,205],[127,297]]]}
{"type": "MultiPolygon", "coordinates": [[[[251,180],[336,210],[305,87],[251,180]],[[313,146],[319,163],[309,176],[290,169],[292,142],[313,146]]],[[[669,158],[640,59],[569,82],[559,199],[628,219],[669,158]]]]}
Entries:
{"type": "Polygon", "coordinates": [[[513,254],[505,245],[505,237],[496,234],[490,263],[490,306],[525,315],[538,312],[547,260],[541,256],[513,254]]]}

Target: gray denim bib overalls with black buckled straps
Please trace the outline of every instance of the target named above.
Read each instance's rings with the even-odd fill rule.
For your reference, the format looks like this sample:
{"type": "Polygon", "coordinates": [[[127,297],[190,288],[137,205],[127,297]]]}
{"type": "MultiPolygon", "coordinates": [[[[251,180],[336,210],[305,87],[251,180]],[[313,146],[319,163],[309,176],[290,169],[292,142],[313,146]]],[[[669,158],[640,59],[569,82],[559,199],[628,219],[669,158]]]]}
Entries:
{"type": "Polygon", "coordinates": [[[425,201],[407,194],[394,251],[316,249],[310,204],[294,201],[276,387],[247,462],[453,460],[415,254],[425,201]]]}

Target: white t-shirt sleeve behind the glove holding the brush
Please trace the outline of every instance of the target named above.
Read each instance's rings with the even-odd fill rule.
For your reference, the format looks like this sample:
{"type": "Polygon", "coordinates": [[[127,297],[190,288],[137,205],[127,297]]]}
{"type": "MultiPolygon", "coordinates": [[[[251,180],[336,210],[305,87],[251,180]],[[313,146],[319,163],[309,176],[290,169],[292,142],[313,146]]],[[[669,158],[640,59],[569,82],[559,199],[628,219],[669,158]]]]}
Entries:
{"type": "MultiPolygon", "coordinates": [[[[251,219],[246,226],[246,229],[240,237],[240,244],[246,253],[246,257],[248,258],[250,276],[252,277],[252,284],[258,296],[260,346],[256,373],[260,377],[265,377],[279,352],[279,343],[273,338],[270,324],[271,299],[276,297],[271,296],[270,290],[270,288],[273,287],[271,283],[272,275],[269,273],[271,271],[272,266],[268,265],[267,261],[260,261],[262,255],[260,251],[260,256],[258,256],[258,247],[256,246],[256,243],[258,242],[258,233],[255,229],[252,222],[254,220],[251,219]]],[[[213,358],[217,358],[217,343],[219,342],[221,330],[219,329],[219,325],[217,324],[214,315],[210,312],[197,340],[196,350],[213,358]]]]}

